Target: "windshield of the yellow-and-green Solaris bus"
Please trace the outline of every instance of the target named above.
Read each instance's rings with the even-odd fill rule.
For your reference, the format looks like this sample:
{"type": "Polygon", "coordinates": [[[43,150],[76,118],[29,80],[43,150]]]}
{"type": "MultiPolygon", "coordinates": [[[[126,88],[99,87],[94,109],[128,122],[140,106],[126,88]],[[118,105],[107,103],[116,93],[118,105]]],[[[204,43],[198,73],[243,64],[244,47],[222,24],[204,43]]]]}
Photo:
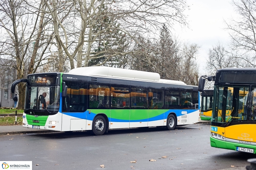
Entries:
{"type": "Polygon", "coordinates": [[[249,89],[250,86],[215,85],[212,122],[227,125],[230,122],[255,120],[256,88],[249,89]]]}

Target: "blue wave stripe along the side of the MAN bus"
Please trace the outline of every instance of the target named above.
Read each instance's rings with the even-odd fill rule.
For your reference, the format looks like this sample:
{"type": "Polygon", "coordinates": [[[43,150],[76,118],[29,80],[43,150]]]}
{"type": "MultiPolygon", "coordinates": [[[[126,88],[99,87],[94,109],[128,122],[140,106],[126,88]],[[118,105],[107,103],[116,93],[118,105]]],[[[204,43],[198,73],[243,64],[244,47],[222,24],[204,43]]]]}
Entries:
{"type": "MultiPolygon", "coordinates": [[[[115,118],[108,118],[108,121],[111,122],[147,122],[147,121],[156,121],[156,120],[163,120],[163,119],[167,119],[168,115],[170,112],[174,112],[177,117],[182,115],[181,112],[185,111],[187,112],[187,114],[192,113],[192,112],[196,112],[197,110],[168,110],[160,115],[154,116],[152,118],[148,118],[148,119],[141,119],[141,120],[122,120],[122,119],[115,119],[115,118]]],[[[82,113],[70,113],[70,112],[63,112],[62,114],[68,115],[68,116],[72,116],[75,118],[79,118],[79,119],[87,119],[87,120],[93,120],[94,117],[96,116],[95,113],[89,113],[88,111],[82,112],[82,113]]]]}

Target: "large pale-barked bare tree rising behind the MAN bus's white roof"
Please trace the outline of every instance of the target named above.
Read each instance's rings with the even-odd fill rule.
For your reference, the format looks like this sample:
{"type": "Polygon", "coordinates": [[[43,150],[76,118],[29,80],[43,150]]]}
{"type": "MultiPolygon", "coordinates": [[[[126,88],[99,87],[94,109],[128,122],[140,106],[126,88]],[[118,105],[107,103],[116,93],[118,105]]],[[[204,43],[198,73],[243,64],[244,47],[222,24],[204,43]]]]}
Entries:
{"type": "Polygon", "coordinates": [[[75,62],[76,67],[81,67],[88,66],[89,60],[103,58],[96,64],[99,66],[110,58],[136,56],[140,54],[134,51],[138,35],[152,35],[163,23],[169,26],[174,22],[186,24],[183,11],[187,6],[183,0],[44,2],[52,16],[59,56],[69,58],[71,69],[75,62]],[[119,41],[122,36],[132,42],[131,50],[122,47],[119,41]],[[95,51],[99,44],[101,50],[95,51]]]}

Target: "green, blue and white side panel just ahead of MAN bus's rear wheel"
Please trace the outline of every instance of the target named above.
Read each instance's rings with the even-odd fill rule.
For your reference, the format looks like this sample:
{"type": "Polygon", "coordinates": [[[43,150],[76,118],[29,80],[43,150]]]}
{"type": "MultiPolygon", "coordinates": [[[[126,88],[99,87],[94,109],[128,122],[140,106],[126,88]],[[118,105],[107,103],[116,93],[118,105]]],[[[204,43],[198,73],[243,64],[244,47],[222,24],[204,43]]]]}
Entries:
{"type": "MultiPolygon", "coordinates": [[[[164,126],[164,111],[163,109],[148,110],[148,127],[164,126]]],[[[166,122],[165,122],[166,125],[166,122]]]]}

